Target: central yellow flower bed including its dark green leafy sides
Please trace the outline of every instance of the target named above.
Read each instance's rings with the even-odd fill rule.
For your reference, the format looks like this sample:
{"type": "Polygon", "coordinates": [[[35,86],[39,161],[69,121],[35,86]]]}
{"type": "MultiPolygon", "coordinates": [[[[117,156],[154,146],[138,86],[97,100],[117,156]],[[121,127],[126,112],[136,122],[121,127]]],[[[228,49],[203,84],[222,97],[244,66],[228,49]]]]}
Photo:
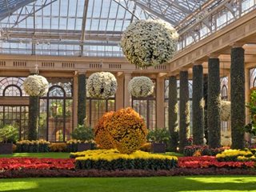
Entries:
{"type": "Polygon", "coordinates": [[[170,170],[177,166],[178,158],[170,155],[150,154],[140,150],[120,154],[118,150],[87,150],[72,154],[76,169],[81,170],[170,170]]]}

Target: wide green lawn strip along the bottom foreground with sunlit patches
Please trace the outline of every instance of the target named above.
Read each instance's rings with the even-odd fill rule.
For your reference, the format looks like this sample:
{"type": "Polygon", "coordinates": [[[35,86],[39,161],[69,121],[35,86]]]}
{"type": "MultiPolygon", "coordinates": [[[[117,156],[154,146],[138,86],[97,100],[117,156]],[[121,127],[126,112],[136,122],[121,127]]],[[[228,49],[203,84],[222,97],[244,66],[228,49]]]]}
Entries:
{"type": "Polygon", "coordinates": [[[256,191],[255,179],[256,177],[252,176],[155,178],[22,178],[0,180],[0,191],[256,191]]]}

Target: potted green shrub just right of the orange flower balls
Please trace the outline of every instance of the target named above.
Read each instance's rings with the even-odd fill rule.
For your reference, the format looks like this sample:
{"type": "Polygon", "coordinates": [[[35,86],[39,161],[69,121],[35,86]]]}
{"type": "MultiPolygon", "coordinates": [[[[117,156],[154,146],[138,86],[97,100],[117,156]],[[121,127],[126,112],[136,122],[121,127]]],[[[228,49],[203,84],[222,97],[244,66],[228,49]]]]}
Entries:
{"type": "Polygon", "coordinates": [[[151,142],[153,153],[166,153],[166,144],[170,140],[170,134],[166,128],[150,130],[147,140],[151,142]]]}

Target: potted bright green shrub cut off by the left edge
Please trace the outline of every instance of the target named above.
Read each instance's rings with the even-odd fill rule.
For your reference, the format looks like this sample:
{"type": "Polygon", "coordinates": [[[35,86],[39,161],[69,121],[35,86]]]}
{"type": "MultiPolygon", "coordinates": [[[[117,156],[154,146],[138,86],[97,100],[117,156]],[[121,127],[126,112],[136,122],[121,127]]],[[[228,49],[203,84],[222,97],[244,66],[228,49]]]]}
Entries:
{"type": "Polygon", "coordinates": [[[6,125],[0,128],[0,154],[12,154],[13,142],[18,140],[18,130],[15,126],[6,125]]]}

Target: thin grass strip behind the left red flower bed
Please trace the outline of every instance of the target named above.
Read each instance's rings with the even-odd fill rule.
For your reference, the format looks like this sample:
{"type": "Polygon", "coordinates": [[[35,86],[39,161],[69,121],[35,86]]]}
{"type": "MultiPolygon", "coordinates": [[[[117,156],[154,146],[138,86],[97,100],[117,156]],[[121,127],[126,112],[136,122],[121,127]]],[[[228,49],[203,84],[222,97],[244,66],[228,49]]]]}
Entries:
{"type": "Polygon", "coordinates": [[[70,158],[70,153],[14,153],[0,154],[0,158],[70,158]]]}

